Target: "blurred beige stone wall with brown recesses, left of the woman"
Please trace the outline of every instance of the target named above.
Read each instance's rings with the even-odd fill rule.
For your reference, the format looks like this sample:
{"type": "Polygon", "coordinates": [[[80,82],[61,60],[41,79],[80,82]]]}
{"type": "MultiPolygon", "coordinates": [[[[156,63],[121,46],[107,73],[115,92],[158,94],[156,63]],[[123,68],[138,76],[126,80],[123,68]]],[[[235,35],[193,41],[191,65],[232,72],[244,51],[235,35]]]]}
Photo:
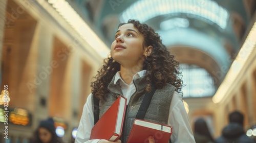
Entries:
{"type": "Polygon", "coordinates": [[[31,126],[9,125],[9,136],[28,138],[39,121],[50,116],[68,124],[63,139],[69,141],[102,58],[60,15],[55,21],[37,5],[1,1],[0,18],[8,19],[8,27],[0,20],[2,85],[9,86],[9,108],[32,115],[31,126]]]}

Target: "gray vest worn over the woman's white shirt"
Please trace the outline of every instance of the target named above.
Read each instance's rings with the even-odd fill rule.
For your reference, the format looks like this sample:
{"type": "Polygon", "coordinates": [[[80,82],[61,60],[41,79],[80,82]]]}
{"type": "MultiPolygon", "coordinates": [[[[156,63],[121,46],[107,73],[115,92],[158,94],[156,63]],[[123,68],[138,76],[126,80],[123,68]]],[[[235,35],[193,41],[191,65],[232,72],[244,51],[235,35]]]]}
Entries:
{"type": "MultiPolygon", "coordinates": [[[[110,93],[105,95],[107,102],[99,101],[99,118],[105,113],[106,110],[115,102],[115,100],[122,95],[122,90],[114,84],[115,76],[113,77],[108,88],[110,93]]],[[[131,132],[135,116],[139,110],[140,104],[145,96],[144,87],[146,85],[143,77],[137,78],[134,81],[136,92],[132,95],[129,104],[126,108],[126,115],[123,125],[122,142],[126,142],[131,132]]],[[[150,106],[148,107],[144,120],[167,124],[169,116],[170,102],[175,91],[175,87],[171,84],[166,83],[162,89],[157,89],[151,100],[150,106]]],[[[93,103],[93,96],[92,96],[93,103]]],[[[93,106],[93,105],[92,105],[93,106]]],[[[94,107],[93,107],[94,110],[94,107]]]]}

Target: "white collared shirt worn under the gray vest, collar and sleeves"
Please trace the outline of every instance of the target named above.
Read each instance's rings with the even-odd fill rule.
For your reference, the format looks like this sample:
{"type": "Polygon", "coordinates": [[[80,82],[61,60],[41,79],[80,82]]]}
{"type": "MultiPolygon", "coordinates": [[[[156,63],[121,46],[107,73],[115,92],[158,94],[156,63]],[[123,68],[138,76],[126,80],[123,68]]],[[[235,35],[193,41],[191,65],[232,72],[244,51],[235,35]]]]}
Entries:
{"type": "MultiPolygon", "coordinates": [[[[141,70],[133,76],[133,80],[144,76],[146,70],[141,70]]],[[[123,96],[127,98],[127,104],[130,101],[132,94],[136,91],[133,82],[130,85],[124,83],[121,79],[120,71],[116,73],[114,84],[120,86],[123,96]]],[[[94,126],[94,115],[92,109],[92,94],[89,94],[86,104],[83,106],[82,116],[77,129],[75,143],[96,143],[99,139],[90,139],[91,130],[94,126]]],[[[172,102],[169,109],[168,125],[173,127],[173,134],[170,137],[172,143],[194,143],[196,142],[193,136],[193,131],[189,125],[188,116],[183,105],[182,98],[178,92],[174,92],[172,102]]]]}

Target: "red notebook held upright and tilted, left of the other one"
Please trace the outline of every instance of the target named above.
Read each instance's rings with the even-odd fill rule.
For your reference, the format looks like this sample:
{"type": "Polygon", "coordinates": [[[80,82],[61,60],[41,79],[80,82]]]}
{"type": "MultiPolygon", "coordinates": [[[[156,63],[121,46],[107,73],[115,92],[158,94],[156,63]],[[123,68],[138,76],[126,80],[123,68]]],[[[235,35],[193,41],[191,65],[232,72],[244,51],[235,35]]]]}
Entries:
{"type": "Polygon", "coordinates": [[[121,136],[126,98],[120,96],[94,125],[90,139],[116,141],[121,136]]]}

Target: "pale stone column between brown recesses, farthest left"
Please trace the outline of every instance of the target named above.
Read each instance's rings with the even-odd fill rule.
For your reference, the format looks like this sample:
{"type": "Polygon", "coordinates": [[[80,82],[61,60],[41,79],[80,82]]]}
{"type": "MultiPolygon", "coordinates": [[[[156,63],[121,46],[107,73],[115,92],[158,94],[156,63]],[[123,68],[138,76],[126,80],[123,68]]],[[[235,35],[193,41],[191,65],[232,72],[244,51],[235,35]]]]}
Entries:
{"type": "Polygon", "coordinates": [[[50,79],[53,70],[52,62],[52,44],[53,36],[50,28],[45,23],[38,21],[38,59],[37,73],[34,76],[35,85],[35,111],[33,127],[37,127],[40,120],[46,119],[49,116],[49,94],[50,94],[50,79]]]}

